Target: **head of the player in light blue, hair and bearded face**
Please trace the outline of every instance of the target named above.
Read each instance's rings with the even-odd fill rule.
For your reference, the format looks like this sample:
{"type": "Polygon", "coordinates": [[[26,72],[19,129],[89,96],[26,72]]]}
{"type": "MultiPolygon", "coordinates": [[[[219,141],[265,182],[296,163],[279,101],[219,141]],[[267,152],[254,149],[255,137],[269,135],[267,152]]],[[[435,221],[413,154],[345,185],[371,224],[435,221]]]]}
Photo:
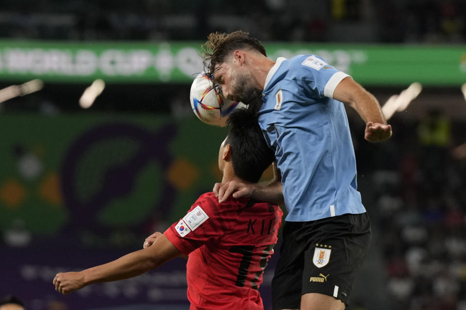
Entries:
{"type": "Polygon", "coordinates": [[[227,99],[250,103],[261,96],[262,89],[254,83],[252,66],[249,62],[255,56],[266,57],[266,50],[248,32],[211,33],[202,46],[205,72],[213,76],[227,99]],[[248,62],[244,57],[251,57],[248,62]]]}

